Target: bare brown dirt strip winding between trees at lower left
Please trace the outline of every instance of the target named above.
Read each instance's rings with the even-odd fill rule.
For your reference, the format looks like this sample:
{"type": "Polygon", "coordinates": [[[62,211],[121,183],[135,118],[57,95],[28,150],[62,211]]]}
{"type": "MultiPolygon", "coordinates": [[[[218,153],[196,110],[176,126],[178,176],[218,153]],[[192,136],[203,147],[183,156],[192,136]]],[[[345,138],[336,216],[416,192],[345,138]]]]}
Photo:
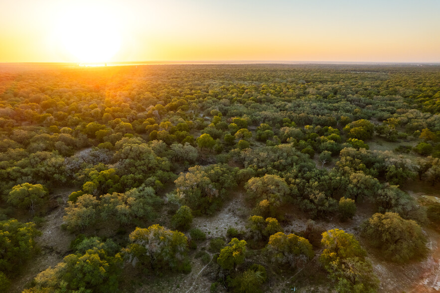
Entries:
{"type": "Polygon", "coordinates": [[[61,230],[61,224],[63,223],[67,197],[75,190],[73,188],[59,188],[52,193],[52,198],[62,198],[63,202],[44,217],[45,222],[39,228],[42,235],[35,239],[41,247],[41,252],[25,266],[22,270],[23,273],[13,282],[9,290],[11,293],[23,291],[38,273],[48,267],[56,266],[68,252],[74,235],[61,230]]]}

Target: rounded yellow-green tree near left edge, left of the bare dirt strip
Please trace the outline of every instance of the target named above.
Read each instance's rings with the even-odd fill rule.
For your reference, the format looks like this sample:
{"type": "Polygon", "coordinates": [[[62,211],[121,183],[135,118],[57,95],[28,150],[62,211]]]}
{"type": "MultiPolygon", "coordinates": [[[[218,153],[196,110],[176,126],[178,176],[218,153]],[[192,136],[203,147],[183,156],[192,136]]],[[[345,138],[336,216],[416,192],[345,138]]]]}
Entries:
{"type": "Polygon", "coordinates": [[[47,202],[47,189],[41,184],[23,183],[12,187],[7,202],[26,208],[34,215],[47,202]]]}

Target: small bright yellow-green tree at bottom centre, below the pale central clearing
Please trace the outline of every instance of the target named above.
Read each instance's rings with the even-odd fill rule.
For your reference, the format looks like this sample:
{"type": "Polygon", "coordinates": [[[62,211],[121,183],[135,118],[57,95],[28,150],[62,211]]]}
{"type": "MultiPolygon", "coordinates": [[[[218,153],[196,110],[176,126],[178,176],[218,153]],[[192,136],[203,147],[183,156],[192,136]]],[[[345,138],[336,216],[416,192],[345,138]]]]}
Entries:
{"type": "Polygon", "coordinates": [[[228,246],[220,251],[217,263],[225,270],[236,269],[246,257],[246,241],[232,238],[228,246]]]}

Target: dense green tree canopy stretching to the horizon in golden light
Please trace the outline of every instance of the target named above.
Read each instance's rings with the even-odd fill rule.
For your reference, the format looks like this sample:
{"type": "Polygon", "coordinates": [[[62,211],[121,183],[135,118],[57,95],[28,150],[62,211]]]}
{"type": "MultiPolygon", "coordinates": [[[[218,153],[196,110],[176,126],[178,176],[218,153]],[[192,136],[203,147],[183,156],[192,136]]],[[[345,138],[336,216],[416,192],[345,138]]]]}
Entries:
{"type": "Polygon", "coordinates": [[[425,65],[0,66],[0,291],[195,291],[176,281],[194,276],[211,292],[392,291],[371,260],[412,266],[439,229],[412,191],[440,187],[439,80],[425,65]],[[45,267],[17,285],[32,260],[45,267]]]}

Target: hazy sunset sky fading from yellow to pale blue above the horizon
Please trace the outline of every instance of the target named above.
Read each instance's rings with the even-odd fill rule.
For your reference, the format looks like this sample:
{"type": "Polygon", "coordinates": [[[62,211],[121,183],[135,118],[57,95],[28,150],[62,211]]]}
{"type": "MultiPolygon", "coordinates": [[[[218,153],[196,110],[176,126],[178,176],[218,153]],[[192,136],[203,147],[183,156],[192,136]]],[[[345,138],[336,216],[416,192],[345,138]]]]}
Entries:
{"type": "Polygon", "coordinates": [[[0,62],[440,62],[440,0],[0,0],[0,62]]]}

